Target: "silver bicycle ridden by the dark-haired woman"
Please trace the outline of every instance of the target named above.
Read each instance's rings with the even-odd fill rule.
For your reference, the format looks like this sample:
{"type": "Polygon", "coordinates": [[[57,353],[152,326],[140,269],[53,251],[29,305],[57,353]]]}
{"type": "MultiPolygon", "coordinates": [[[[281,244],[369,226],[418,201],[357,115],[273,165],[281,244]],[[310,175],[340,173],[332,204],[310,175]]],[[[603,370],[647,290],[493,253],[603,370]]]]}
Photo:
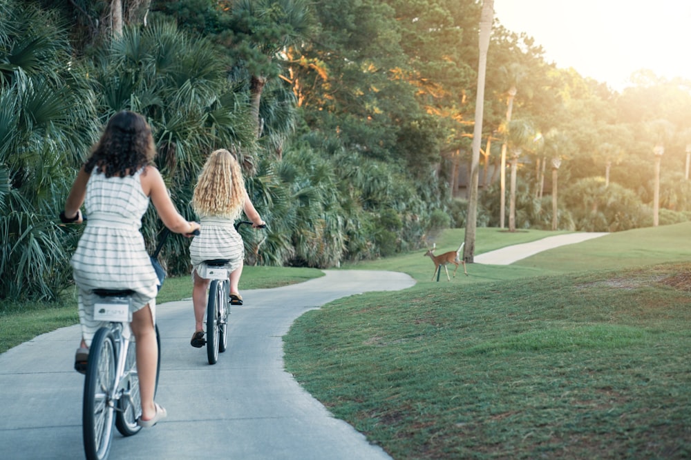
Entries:
{"type": "MultiPolygon", "coordinates": [[[[166,229],[167,230],[167,229],[166,229]]],[[[169,232],[164,232],[152,261],[158,257],[169,232]]],[[[162,276],[157,275],[162,283],[162,276]]],[[[159,286],[160,288],[160,286],[159,286]]],[[[108,457],[113,440],[113,426],[124,437],[142,429],[137,420],[142,415],[139,377],[137,373],[136,344],[129,323],[132,321],[130,304],[133,290],[95,289],[94,319],[108,321],[96,331],[89,348],[82,401],[82,434],[84,453],[88,460],[108,457]]],[[[158,390],[161,364],[161,341],[155,326],[158,363],[154,394],[158,390]]]]}

